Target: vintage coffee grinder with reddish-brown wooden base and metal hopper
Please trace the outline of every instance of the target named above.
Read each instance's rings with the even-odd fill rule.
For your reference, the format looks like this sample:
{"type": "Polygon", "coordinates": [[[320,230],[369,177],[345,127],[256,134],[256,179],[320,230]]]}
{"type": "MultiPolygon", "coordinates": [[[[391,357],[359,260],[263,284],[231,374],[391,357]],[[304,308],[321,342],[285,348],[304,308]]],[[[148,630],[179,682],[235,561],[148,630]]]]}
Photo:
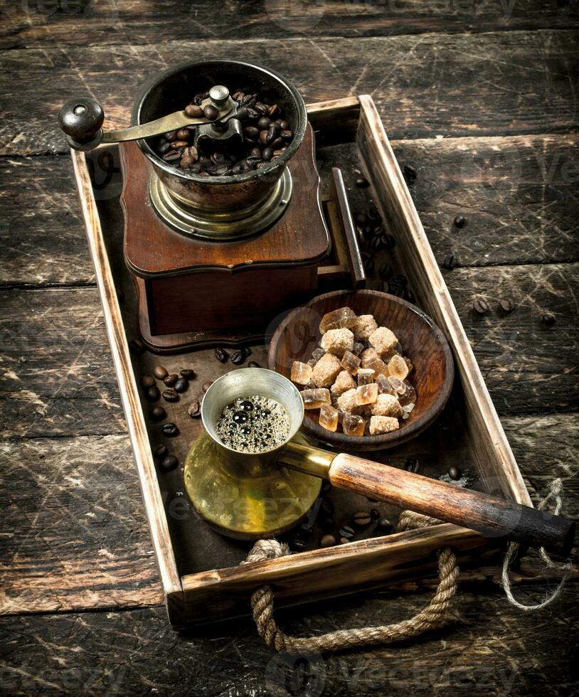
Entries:
{"type": "Polygon", "coordinates": [[[132,127],[103,132],[103,120],[100,105],[87,98],[60,112],[71,147],[119,143],[124,260],[137,284],[140,332],[153,351],[257,338],[280,312],[318,292],[320,279],[363,285],[339,170],[322,201],[306,107],[275,71],[238,60],[184,63],[144,87],[132,127]],[[196,128],[198,151],[243,145],[239,104],[228,88],[258,92],[280,107],[293,132],[287,149],[260,169],[227,176],[164,161],[159,138],[186,126],[196,128]],[[200,92],[201,107],[217,113],[211,121],[184,112],[200,92]]]}

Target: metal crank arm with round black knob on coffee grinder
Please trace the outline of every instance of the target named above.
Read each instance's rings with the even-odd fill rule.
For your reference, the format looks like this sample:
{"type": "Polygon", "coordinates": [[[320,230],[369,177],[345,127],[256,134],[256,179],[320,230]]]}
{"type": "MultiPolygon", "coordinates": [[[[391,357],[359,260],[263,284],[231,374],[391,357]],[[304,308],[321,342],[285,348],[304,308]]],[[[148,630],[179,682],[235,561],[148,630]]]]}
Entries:
{"type": "Polygon", "coordinates": [[[209,96],[201,102],[201,108],[214,107],[214,117],[187,116],[184,110],[173,112],[160,119],[118,131],[103,131],[102,123],[105,112],[101,105],[90,97],[78,97],[70,100],[58,112],[58,124],[65,132],[68,144],[74,150],[94,150],[101,143],[121,143],[139,140],[167,133],[186,126],[209,123],[223,123],[235,116],[237,103],[229,96],[227,87],[215,85],[209,90],[209,96]]]}

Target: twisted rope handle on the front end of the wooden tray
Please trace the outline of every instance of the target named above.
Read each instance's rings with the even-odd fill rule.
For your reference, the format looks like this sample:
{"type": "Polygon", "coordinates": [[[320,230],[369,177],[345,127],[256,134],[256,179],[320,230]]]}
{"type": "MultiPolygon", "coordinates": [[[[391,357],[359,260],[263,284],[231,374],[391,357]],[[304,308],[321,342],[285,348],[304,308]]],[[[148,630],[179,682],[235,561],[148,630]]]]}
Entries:
{"type": "MultiPolygon", "coordinates": [[[[403,511],[398,521],[398,532],[425,528],[438,525],[441,521],[436,518],[422,516],[412,511],[403,511]]],[[[248,554],[243,563],[263,561],[282,557],[290,553],[286,544],[276,540],[259,540],[248,554]]],[[[270,585],[258,588],[251,596],[253,619],[257,632],[270,649],[288,654],[318,654],[322,651],[337,651],[354,649],[371,644],[391,644],[418,634],[427,629],[440,627],[450,600],[457,590],[459,568],[457,558],[449,548],[437,551],[438,587],[430,605],[415,614],[410,619],[404,619],[395,624],[381,624],[376,627],[361,627],[360,629],[339,629],[319,637],[290,637],[282,632],[273,617],[273,591],[270,585]]]]}

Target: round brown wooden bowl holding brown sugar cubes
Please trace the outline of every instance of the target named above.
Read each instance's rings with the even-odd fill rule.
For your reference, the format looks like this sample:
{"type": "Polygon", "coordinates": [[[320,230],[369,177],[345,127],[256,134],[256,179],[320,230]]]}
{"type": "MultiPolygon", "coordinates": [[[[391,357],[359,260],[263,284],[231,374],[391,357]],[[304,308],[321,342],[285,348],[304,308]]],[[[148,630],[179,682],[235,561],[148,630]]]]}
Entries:
{"type": "Polygon", "coordinates": [[[341,450],[378,450],[400,445],[417,436],[440,414],[452,388],[455,367],[450,346],[442,331],[418,307],[398,297],[375,290],[339,290],[319,295],[297,307],[277,327],[270,344],[270,370],[290,378],[292,363],[312,356],[319,339],[319,322],[326,312],[351,307],[356,314],[373,314],[378,326],[387,326],[398,337],[404,355],[414,369],[409,381],[417,400],[410,417],[400,429],[383,435],[350,436],[331,432],[318,423],[318,411],[306,411],[304,430],[317,440],[341,450]]]}

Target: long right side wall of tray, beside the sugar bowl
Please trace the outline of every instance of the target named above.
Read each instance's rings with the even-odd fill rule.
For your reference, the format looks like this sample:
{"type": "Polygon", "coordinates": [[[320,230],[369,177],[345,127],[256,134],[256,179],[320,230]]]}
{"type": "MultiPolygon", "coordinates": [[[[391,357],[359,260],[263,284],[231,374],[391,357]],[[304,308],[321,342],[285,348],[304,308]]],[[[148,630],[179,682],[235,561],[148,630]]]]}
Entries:
{"type": "Polygon", "coordinates": [[[467,426],[479,452],[487,491],[532,506],[376,106],[369,95],[361,95],[359,99],[361,110],[356,139],[368,179],[376,191],[376,203],[383,218],[391,221],[402,243],[400,246],[405,250],[405,270],[410,282],[420,293],[424,309],[445,332],[452,347],[464,390],[467,426]]]}

